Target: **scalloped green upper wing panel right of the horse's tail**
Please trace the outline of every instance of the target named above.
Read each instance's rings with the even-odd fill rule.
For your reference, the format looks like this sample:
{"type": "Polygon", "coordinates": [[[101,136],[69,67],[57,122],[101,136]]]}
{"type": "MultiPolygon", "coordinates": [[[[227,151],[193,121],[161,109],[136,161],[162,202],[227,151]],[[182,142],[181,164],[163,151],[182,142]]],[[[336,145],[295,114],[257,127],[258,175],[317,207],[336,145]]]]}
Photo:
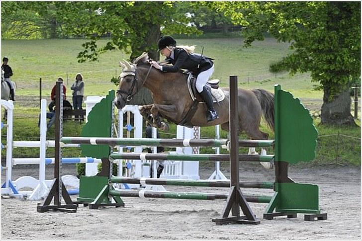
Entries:
{"type": "Polygon", "coordinates": [[[315,158],[318,132],[298,98],[275,86],[275,160],[289,163],[315,158]]]}

